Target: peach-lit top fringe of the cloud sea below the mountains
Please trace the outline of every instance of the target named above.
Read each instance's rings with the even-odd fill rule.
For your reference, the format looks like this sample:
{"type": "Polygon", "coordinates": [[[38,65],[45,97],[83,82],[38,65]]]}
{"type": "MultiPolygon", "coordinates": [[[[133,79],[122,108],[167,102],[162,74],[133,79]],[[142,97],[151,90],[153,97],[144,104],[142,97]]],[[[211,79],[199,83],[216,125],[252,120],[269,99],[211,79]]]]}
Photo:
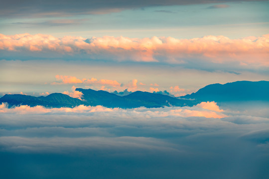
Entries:
{"type": "MultiPolygon", "coordinates": [[[[74,87],[75,89],[75,87],[74,87]]],[[[154,89],[156,90],[156,89],[154,89]]],[[[70,95],[70,93],[66,93],[70,95]]],[[[71,96],[72,97],[72,96],[71,96]]],[[[81,95],[80,95],[81,97],[81,95]]],[[[203,102],[200,105],[194,107],[164,107],[164,108],[145,108],[139,107],[134,109],[122,109],[122,108],[107,108],[103,106],[85,106],[79,105],[74,108],[61,107],[61,108],[45,108],[43,106],[30,107],[28,105],[16,106],[13,108],[7,108],[6,103],[0,105],[0,113],[62,113],[62,112],[75,112],[75,113],[91,113],[91,112],[118,112],[121,115],[136,115],[140,117],[168,117],[168,116],[181,116],[181,117],[206,117],[206,118],[223,118],[227,115],[221,113],[223,110],[220,110],[215,102],[208,102],[204,104],[203,102]],[[145,110],[146,109],[146,110],[145,110]],[[208,109],[208,110],[204,110],[208,109]]]]}

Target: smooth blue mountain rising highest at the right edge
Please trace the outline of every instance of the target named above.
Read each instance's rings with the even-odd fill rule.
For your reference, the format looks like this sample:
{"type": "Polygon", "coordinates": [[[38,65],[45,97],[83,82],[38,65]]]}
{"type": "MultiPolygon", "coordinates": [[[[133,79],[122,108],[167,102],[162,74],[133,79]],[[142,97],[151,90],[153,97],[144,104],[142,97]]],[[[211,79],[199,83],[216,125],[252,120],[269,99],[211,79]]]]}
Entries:
{"type": "Polygon", "coordinates": [[[212,84],[179,98],[216,102],[269,101],[269,82],[238,81],[224,85],[212,84]]]}

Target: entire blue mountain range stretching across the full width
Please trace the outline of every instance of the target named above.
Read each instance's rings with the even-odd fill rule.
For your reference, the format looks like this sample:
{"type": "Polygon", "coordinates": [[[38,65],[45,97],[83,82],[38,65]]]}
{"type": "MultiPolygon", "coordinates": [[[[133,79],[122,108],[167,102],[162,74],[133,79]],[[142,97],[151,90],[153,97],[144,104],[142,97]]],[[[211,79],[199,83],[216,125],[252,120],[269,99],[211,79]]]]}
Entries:
{"type": "Polygon", "coordinates": [[[104,90],[81,89],[81,99],[70,97],[62,93],[52,93],[47,96],[30,96],[24,94],[5,94],[0,103],[6,102],[9,107],[18,105],[44,107],[75,107],[84,105],[103,105],[106,107],[134,108],[134,107],[163,107],[163,106],[193,106],[201,101],[233,102],[233,101],[268,101],[269,82],[239,81],[233,83],[208,85],[197,92],[180,97],[171,97],[158,93],[135,91],[120,96],[104,90]]]}

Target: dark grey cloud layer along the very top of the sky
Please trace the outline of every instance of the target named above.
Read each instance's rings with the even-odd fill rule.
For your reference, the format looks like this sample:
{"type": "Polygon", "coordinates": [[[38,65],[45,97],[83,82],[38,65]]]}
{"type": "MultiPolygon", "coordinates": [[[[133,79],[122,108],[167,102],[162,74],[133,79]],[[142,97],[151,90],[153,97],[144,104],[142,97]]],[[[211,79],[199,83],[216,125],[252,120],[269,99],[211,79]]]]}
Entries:
{"type": "Polygon", "coordinates": [[[222,2],[227,2],[227,0],[5,0],[0,6],[0,16],[32,17],[34,15],[35,17],[44,17],[69,16],[75,14],[103,14],[121,11],[123,9],[148,6],[222,2]]]}

